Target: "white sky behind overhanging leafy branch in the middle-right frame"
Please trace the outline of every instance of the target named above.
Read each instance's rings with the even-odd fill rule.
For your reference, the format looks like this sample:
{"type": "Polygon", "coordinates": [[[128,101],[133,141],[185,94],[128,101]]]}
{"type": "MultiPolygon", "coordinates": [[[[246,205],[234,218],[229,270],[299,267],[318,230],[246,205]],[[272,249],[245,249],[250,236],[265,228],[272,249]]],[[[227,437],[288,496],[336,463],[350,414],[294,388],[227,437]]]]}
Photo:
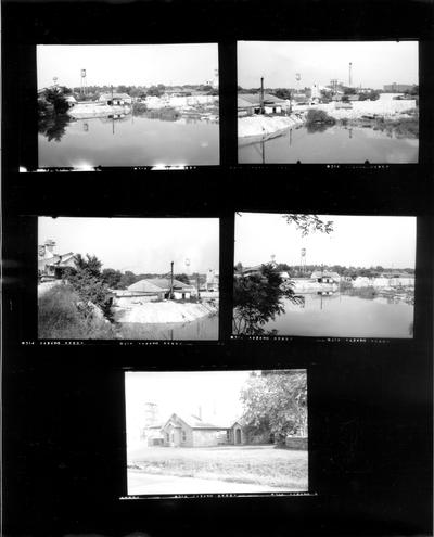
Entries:
{"type": "Polygon", "coordinates": [[[303,238],[280,214],[240,215],[234,260],[245,267],[271,261],[271,255],[276,263],[299,265],[301,250],[306,248],[306,265],[414,268],[414,217],[318,215],[334,222],[333,231],[303,238]]]}

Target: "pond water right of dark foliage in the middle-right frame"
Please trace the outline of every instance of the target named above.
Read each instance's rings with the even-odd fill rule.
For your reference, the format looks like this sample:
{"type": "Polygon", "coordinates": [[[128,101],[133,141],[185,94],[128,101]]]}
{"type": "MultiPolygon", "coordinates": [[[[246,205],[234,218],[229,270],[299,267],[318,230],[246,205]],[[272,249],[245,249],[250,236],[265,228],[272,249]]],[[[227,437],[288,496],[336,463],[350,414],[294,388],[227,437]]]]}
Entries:
{"type": "Polygon", "coordinates": [[[277,335],[412,337],[413,306],[406,303],[340,293],[305,294],[304,297],[304,307],[285,299],[285,312],[264,328],[277,330],[277,335]]]}

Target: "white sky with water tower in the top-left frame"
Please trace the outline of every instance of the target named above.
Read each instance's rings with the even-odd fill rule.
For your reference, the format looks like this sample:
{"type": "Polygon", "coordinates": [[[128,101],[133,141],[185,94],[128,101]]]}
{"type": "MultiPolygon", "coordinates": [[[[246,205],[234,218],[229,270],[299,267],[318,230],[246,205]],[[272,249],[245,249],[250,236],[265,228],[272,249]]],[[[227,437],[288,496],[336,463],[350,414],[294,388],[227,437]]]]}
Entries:
{"type": "Polygon", "coordinates": [[[58,84],[88,86],[205,84],[218,68],[216,43],[193,44],[38,44],[38,89],[58,84]]]}

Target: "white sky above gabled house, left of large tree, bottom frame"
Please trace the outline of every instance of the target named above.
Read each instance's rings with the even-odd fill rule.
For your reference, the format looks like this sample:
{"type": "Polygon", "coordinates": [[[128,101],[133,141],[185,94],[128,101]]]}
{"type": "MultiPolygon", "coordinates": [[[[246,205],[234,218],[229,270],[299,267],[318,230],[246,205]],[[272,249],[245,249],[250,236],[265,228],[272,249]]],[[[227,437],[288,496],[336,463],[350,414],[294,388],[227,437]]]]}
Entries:
{"type": "Polygon", "coordinates": [[[197,414],[217,426],[229,426],[243,412],[241,388],[250,371],[125,373],[127,432],[136,437],[143,426],[144,404],[158,405],[165,422],[173,413],[197,414]],[[232,423],[231,423],[232,422],[232,423]]]}

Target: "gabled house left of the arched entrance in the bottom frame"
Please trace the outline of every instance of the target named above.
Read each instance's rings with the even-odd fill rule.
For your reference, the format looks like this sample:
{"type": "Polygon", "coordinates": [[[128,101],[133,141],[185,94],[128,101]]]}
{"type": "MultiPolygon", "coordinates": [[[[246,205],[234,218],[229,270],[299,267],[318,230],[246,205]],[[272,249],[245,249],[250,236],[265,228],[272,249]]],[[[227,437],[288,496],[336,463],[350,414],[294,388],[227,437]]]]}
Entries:
{"type": "Polygon", "coordinates": [[[227,444],[226,427],[203,421],[197,415],[171,414],[162,427],[163,445],[169,447],[210,447],[227,444]]]}

